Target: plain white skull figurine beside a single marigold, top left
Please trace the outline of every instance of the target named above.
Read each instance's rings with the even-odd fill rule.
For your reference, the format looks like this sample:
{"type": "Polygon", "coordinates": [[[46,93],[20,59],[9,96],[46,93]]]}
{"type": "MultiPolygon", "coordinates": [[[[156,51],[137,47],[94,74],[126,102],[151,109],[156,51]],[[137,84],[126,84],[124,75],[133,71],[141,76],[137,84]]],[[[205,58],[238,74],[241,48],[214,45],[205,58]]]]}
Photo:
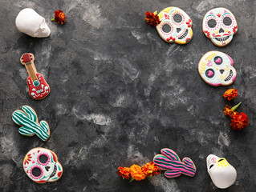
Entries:
{"type": "Polygon", "coordinates": [[[47,38],[51,34],[45,18],[30,8],[23,9],[18,13],[15,24],[20,32],[33,38],[47,38]]]}

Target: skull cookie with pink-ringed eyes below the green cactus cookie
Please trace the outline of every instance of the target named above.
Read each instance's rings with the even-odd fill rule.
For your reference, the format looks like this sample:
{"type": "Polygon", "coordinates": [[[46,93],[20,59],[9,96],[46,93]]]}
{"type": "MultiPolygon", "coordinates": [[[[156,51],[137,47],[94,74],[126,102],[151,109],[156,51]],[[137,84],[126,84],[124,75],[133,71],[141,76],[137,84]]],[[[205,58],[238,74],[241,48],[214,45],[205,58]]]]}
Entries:
{"type": "Polygon", "coordinates": [[[44,148],[30,150],[23,160],[23,169],[30,179],[40,184],[55,182],[63,174],[57,155],[44,148]]]}

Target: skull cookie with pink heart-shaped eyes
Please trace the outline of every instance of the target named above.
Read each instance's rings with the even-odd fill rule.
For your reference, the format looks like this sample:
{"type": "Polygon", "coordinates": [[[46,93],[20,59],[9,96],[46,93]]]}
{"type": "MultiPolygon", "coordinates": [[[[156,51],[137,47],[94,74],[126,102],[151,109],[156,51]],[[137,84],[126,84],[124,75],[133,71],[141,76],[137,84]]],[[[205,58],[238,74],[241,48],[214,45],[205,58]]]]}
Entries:
{"type": "Polygon", "coordinates": [[[236,76],[233,59],[220,51],[209,51],[200,60],[198,72],[201,78],[211,86],[229,86],[236,76]]]}

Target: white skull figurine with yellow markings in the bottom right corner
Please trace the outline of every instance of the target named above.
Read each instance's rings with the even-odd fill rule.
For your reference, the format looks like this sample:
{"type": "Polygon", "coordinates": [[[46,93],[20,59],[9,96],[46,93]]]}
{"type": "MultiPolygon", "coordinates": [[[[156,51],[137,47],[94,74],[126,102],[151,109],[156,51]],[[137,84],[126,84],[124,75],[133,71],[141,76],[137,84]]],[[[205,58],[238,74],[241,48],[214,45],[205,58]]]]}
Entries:
{"type": "Polygon", "coordinates": [[[226,158],[218,158],[214,154],[209,154],[206,158],[206,166],[215,186],[226,189],[232,186],[237,179],[237,171],[226,158]]]}

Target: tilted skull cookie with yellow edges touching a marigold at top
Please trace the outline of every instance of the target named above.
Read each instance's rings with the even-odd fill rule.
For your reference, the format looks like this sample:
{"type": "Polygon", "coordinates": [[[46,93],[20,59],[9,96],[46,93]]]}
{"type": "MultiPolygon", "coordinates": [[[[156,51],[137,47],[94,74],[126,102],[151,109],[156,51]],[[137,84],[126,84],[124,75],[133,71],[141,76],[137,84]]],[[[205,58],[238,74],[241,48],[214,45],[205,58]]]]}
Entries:
{"type": "Polygon", "coordinates": [[[193,37],[192,21],[184,10],[171,6],[162,10],[158,17],[161,23],[156,26],[156,30],[165,42],[190,42],[193,37]]]}

